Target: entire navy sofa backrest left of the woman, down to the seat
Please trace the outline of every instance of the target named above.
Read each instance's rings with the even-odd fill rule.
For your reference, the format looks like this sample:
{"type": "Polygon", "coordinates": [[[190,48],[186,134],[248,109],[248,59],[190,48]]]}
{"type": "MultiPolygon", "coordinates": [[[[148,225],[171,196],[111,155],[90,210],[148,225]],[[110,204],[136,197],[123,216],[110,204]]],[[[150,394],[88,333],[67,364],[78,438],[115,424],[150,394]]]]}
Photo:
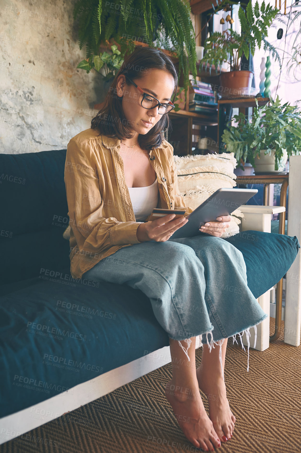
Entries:
{"type": "Polygon", "coordinates": [[[0,154],[0,285],[70,265],[66,149],[0,154]]]}

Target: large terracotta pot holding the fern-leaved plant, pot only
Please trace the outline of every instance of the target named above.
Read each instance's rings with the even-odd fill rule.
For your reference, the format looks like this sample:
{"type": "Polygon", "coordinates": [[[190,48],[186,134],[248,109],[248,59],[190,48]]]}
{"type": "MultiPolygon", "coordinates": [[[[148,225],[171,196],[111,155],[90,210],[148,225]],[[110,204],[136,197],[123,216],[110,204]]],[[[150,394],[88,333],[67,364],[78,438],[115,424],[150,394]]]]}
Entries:
{"type": "Polygon", "coordinates": [[[220,93],[222,99],[250,95],[253,72],[230,71],[220,76],[220,93]]]}

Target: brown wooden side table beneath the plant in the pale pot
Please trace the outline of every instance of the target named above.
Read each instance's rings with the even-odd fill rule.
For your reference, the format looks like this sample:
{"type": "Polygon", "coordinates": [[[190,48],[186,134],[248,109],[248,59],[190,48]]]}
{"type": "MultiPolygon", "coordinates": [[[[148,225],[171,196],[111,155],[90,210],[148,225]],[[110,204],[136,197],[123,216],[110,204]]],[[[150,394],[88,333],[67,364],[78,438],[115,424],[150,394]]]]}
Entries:
{"type": "MultiPolygon", "coordinates": [[[[263,186],[263,206],[267,206],[267,194],[268,194],[268,185],[269,184],[281,184],[280,190],[280,206],[285,209],[282,212],[279,212],[279,234],[285,234],[285,211],[287,204],[287,187],[288,187],[288,176],[289,173],[283,173],[278,175],[267,174],[267,175],[251,175],[251,176],[237,176],[236,184],[264,184],[263,186]]],[[[243,205],[240,207],[242,212],[243,209],[248,210],[248,205],[243,205]]],[[[249,205],[250,206],[250,205],[249,205]]],[[[275,208],[275,207],[271,207],[275,208]]],[[[270,214],[276,212],[270,212],[270,214]]],[[[279,280],[276,287],[276,318],[275,318],[275,333],[270,336],[270,342],[277,340],[281,333],[281,315],[282,315],[282,287],[283,287],[283,278],[279,280]]]]}

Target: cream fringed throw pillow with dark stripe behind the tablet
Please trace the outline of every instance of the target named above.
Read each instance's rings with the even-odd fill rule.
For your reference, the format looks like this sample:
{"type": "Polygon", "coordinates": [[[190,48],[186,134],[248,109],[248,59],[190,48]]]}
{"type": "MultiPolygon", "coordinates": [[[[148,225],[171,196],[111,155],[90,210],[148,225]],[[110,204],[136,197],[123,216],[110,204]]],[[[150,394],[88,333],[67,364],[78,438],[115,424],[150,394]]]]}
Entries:
{"type": "MultiPolygon", "coordinates": [[[[237,161],[234,153],[196,154],[194,156],[174,156],[177,167],[178,188],[185,205],[196,209],[202,202],[222,187],[236,186],[234,169],[237,161]]],[[[222,238],[239,233],[239,217],[244,217],[240,209],[231,214],[230,227],[222,238]]]]}

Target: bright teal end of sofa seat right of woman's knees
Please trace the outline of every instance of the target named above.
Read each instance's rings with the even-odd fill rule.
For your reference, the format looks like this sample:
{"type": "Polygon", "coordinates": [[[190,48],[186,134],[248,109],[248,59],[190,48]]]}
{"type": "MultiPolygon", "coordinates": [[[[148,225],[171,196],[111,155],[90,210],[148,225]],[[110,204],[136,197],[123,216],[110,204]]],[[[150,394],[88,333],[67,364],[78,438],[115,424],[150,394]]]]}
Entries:
{"type": "Polygon", "coordinates": [[[255,230],[223,239],[243,254],[248,286],[256,299],[285,276],[300,248],[296,236],[255,230]]]}

